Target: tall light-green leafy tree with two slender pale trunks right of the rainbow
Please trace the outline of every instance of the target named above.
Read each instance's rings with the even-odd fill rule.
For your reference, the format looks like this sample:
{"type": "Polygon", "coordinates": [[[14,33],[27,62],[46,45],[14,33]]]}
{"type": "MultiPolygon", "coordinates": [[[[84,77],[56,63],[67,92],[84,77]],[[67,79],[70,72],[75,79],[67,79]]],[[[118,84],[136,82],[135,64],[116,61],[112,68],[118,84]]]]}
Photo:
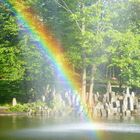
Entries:
{"type": "MultiPolygon", "coordinates": [[[[109,7],[110,3],[104,0],[77,0],[74,1],[74,5],[68,0],[60,0],[56,3],[69,13],[71,19],[75,21],[77,29],[79,29],[77,31],[78,46],[74,47],[78,47],[80,50],[78,61],[81,62],[82,95],[85,100],[87,91],[92,97],[96,71],[98,66],[106,61],[104,40],[108,30],[112,28],[111,18],[113,16],[109,7]],[[89,90],[86,89],[88,84],[90,85],[89,90]]],[[[74,54],[75,52],[72,53],[72,58],[74,54]]]]}

